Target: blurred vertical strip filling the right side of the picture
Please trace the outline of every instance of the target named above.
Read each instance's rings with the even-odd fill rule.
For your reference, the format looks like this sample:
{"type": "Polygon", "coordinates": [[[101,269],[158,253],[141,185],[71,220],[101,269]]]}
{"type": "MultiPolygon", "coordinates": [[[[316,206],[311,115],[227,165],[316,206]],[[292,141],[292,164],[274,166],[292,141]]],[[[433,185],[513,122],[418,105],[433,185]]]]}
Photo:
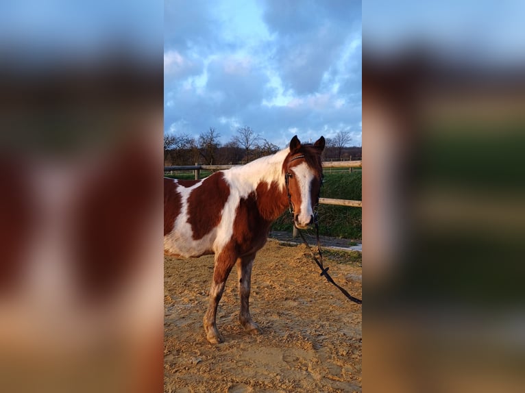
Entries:
{"type": "Polygon", "coordinates": [[[525,388],[525,6],[363,3],[363,390],[525,388]]]}

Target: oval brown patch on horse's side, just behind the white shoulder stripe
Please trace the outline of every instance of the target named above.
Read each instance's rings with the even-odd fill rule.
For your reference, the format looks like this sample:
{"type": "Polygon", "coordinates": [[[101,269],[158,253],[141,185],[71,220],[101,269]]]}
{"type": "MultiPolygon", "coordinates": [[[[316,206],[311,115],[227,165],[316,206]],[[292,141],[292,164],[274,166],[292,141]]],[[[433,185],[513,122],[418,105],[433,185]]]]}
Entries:
{"type": "Polygon", "coordinates": [[[188,224],[193,239],[199,240],[221,222],[223,207],[230,197],[230,186],[222,172],[206,177],[188,197],[188,224]]]}

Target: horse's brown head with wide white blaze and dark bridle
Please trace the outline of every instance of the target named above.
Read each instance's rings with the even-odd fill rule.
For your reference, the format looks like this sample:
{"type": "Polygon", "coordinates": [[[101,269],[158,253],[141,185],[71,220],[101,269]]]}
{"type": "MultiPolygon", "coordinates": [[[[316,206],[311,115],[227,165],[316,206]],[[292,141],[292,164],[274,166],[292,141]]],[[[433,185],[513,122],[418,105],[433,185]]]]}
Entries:
{"type": "Polygon", "coordinates": [[[301,144],[294,136],[290,141],[290,153],[283,163],[286,189],[293,213],[293,223],[304,229],[314,222],[314,210],[319,203],[323,182],[323,153],[325,140],[321,136],[314,144],[301,144]]]}

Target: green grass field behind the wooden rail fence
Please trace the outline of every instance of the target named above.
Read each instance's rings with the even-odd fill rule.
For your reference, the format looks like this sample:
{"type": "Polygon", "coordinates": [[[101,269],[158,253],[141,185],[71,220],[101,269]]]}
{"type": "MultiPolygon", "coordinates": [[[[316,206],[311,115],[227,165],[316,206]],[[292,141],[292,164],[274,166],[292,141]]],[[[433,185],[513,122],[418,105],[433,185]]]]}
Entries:
{"type": "MultiPolygon", "coordinates": [[[[202,170],[201,177],[210,175],[210,171],[202,170]]],[[[193,173],[178,173],[165,175],[175,179],[194,179],[193,173]]],[[[321,197],[336,199],[351,199],[361,201],[361,171],[350,173],[348,170],[327,169],[324,171],[324,186],[321,197]]],[[[335,238],[361,240],[362,215],[361,207],[319,205],[319,234],[335,238]]],[[[276,231],[292,231],[292,219],[288,210],[273,223],[276,231]]]]}

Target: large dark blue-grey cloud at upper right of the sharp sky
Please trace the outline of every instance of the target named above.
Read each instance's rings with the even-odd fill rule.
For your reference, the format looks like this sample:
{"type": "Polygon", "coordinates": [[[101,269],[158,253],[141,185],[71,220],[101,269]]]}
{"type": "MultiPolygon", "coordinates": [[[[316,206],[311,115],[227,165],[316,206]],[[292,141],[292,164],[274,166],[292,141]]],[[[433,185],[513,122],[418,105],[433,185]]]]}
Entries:
{"type": "MultiPolygon", "coordinates": [[[[276,60],[284,85],[297,94],[321,87],[323,75],[361,36],[361,1],[266,3],[265,21],[277,35],[276,60]]],[[[361,53],[358,53],[361,58],[361,53]]]]}

